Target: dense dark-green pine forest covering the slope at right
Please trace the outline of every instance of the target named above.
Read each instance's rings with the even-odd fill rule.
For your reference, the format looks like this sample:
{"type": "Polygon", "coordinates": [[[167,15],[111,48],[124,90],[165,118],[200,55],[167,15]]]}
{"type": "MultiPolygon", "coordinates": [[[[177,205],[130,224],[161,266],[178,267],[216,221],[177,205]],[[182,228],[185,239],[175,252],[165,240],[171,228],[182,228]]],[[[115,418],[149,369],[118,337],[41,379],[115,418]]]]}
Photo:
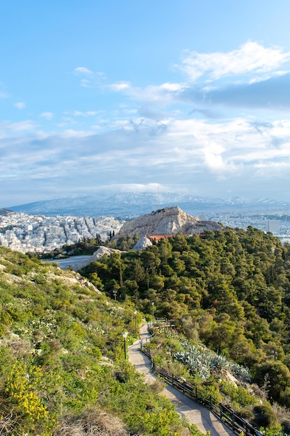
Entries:
{"type": "MultiPolygon", "coordinates": [[[[117,290],[138,311],[168,318],[191,345],[216,352],[220,364],[224,357],[248,368],[265,410],[290,407],[290,246],[271,233],[249,227],[177,234],[144,251],[102,258],[81,274],[108,296],[117,290]]],[[[250,413],[241,387],[237,393],[228,384],[215,389],[250,413]],[[242,396],[245,404],[236,398],[242,396]]],[[[267,422],[276,425],[270,417],[267,422]]]]}

